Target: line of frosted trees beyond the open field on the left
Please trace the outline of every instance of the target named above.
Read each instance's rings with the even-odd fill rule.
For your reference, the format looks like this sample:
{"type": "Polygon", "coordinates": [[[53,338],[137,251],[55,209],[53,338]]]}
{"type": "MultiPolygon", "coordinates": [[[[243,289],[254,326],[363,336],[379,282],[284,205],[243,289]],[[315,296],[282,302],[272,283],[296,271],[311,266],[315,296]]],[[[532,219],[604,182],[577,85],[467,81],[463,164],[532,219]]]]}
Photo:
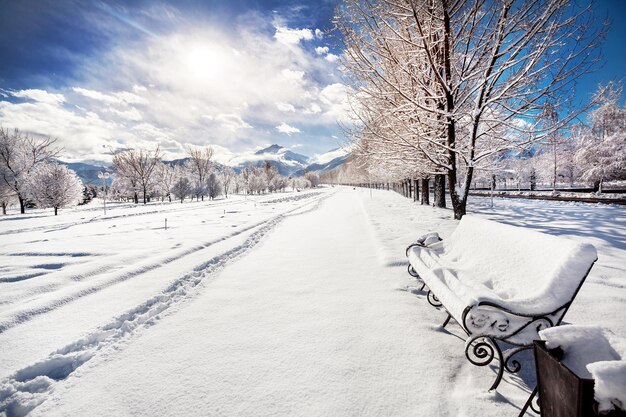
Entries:
{"type": "MultiPolygon", "coordinates": [[[[51,138],[36,139],[19,130],[0,127],[0,205],[3,214],[17,200],[21,213],[29,204],[58,209],[91,199],[96,189],[82,184],[76,173],[56,160],[60,148],[51,138]]],[[[287,187],[316,187],[319,176],[285,178],[270,162],[262,167],[244,168],[237,174],[232,168],[214,164],[213,149],[189,148],[189,157],[174,163],[162,161],[159,147],[154,150],[128,149],[113,158],[113,198],[147,203],[151,198],[214,199],[229,193],[265,193],[284,191],[287,187]]]]}

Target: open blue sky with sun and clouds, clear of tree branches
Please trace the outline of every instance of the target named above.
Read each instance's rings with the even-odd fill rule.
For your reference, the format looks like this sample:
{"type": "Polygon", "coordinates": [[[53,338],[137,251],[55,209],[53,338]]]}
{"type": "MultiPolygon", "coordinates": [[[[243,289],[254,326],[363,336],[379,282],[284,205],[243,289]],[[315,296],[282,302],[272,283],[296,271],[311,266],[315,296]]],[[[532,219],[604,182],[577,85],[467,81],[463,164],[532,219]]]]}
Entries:
{"type": "MultiPolygon", "coordinates": [[[[271,143],[308,155],[339,146],[347,122],[337,0],[0,0],[0,123],[59,138],[65,159],[159,143],[166,156],[211,144],[223,161],[271,143]]],[[[626,1],[606,63],[583,77],[626,76],[626,1]]]]}

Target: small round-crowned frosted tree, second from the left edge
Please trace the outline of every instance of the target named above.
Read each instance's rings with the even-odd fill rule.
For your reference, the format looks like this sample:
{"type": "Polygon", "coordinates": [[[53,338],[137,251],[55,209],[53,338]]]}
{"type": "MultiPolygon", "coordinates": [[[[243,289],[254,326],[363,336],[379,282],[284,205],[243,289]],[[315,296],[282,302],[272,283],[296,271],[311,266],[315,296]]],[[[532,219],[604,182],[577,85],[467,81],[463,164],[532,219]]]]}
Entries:
{"type": "Polygon", "coordinates": [[[40,208],[58,210],[75,206],[83,200],[83,183],[76,173],[59,163],[37,164],[26,183],[28,197],[40,208]]]}

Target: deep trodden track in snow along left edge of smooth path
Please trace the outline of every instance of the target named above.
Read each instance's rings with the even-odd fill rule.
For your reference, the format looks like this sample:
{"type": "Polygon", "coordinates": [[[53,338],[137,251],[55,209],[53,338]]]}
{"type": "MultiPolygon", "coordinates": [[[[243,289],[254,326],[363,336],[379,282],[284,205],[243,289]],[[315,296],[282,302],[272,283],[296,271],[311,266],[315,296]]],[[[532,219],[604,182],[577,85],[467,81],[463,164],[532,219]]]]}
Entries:
{"type": "MultiPolygon", "coordinates": [[[[16,371],[0,382],[0,415],[22,417],[43,403],[55,383],[69,377],[76,369],[92,359],[98,352],[113,346],[132,336],[136,330],[154,324],[170,307],[191,299],[199,284],[212,278],[228,263],[234,261],[256,246],[261,239],[273,230],[286,217],[301,215],[316,210],[321,202],[332,193],[307,201],[261,222],[242,244],[237,245],[194,268],[156,296],[137,307],[123,313],[110,323],[98,328],[93,333],[76,340],[48,355],[47,358],[16,371]],[[303,210],[304,209],[304,210],[303,210]]],[[[244,231],[239,231],[238,234],[244,231]]]]}

